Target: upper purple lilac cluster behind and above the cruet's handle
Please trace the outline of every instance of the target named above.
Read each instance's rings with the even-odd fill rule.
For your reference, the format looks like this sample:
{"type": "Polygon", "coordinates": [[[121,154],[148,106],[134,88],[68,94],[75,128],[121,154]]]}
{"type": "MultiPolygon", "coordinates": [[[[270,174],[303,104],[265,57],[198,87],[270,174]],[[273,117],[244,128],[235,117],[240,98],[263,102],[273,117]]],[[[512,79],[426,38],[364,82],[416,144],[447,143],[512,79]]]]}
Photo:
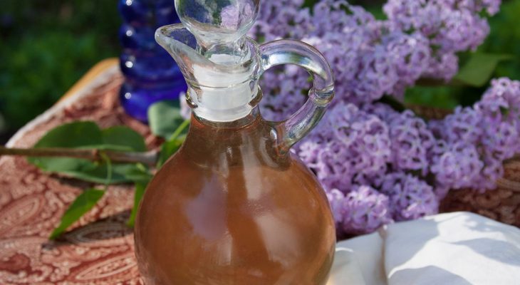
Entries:
{"type": "MultiPolygon", "coordinates": [[[[499,0],[390,0],[384,9],[388,20],[378,21],[345,0],[323,0],[312,9],[302,9],[302,2],[264,2],[251,36],[264,41],[297,38],[316,46],[333,67],[338,97],[358,105],[385,94],[399,97],[421,77],[452,78],[458,69],[455,53],[476,48],[489,33],[481,12],[495,14],[500,4],[499,0]]],[[[297,91],[272,98],[279,94],[276,82],[295,76],[306,77],[292,71],[265,78],[264,93],[270,99],[261,104],[273,110],[267,118],[287,118],[303,103],[305,93],[297,91]],[[287,108],[279,108],[279,102],[287,108]]]]}

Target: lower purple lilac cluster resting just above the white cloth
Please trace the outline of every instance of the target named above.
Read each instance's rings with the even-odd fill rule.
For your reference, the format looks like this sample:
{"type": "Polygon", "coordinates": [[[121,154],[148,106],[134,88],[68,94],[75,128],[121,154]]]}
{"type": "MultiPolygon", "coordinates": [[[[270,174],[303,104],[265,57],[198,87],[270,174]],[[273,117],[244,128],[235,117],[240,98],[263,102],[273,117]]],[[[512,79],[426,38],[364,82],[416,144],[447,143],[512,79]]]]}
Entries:
{"type": "Polygon", "coordinates": [[[438,210],[447,190],[489,190],[520,152],[520,82],[500,78],[472,108],[428,124],[382,103],[337,103],[296,153],[328,193],[338,234],[438,210]]]}

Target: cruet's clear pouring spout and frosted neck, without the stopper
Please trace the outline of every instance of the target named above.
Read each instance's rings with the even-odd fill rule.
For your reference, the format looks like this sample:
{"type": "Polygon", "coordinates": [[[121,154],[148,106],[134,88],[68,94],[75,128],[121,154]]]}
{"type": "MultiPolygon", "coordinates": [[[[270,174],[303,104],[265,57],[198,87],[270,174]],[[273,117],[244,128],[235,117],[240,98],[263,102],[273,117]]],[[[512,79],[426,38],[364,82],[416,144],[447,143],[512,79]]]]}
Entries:
{"type": "Polygon", "coordinates": [[[251,112],[259,95],[259,47],[244,38],[249,57],[236,63],[234,55],[199,52],[195,36],[182,24],[158,28],[155,40],[170,53],[188,85],[187,102],[195,115],[212,121],[232,121],[251,112]]]}

